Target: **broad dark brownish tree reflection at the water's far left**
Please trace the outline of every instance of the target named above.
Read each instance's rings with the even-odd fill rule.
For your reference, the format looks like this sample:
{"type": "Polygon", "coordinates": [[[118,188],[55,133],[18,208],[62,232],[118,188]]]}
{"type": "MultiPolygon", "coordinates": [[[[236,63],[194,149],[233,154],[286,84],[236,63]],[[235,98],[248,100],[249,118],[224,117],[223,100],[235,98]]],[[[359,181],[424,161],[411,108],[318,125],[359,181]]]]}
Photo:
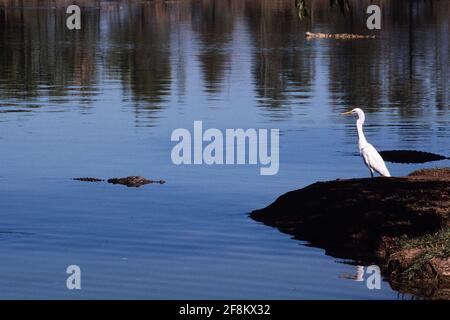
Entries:
{"type": "Polygon", "coordinates": [[[95,43],[100,11],[84,11],[89,28],[69,34],[64,7],[24,7],[15,1],[0,4],[0,98],[51,102],[95,101],[98,85],[95,43]]]}

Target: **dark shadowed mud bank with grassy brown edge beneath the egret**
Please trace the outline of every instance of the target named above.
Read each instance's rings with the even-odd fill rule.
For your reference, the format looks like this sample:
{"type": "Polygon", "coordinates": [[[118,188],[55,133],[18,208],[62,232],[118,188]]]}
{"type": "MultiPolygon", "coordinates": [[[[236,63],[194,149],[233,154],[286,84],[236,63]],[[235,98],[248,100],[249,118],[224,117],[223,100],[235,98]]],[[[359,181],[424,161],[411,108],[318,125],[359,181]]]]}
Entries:
{"type": "Polygon", "coordinates": [[[450,168],[317,182],[251,217],[328,255],[377,263],[397,290],[450,299],[450,168]]]}

